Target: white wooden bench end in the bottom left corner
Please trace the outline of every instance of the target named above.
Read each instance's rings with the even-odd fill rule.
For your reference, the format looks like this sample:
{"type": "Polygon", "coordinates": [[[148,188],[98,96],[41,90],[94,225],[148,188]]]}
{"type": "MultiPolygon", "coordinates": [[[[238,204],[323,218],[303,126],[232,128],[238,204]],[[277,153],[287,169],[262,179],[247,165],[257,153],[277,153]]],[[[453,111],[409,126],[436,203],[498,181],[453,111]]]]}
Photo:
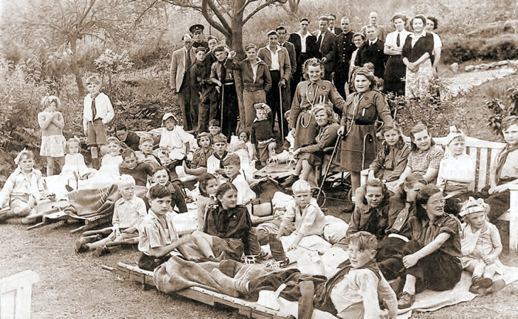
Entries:
{"type": "Polygon", "coordinates": [[[40,276],[31,270],[0,279],[0,318],[31,318],[33,284],[40,276]]]}

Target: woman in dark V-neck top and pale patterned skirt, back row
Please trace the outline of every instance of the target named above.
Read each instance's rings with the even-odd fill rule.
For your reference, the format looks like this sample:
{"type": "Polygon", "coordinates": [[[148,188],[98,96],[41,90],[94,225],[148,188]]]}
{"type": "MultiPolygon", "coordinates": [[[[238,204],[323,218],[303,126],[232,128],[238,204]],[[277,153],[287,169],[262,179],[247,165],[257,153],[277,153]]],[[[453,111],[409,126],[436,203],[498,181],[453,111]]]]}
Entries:
{"type": "Polygon", "coordinates": [[[426,17],[417,15],[410,21],[411,33],[403,45],[403,63],[407,66],[404,93],[407,97],[419,98],[429,91],[434,70],[430,57],[434,51],[434,36],[426,33],[426,17]]]}

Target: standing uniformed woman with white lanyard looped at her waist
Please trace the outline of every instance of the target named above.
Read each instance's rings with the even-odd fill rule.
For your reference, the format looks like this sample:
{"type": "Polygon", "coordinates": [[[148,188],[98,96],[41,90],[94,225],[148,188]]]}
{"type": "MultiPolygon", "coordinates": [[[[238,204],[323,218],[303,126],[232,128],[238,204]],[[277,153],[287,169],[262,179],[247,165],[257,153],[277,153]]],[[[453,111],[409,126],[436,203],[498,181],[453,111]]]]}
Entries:
{"type": "Polygon", "coordinates": [[[304,79],[295,89],[290,111],[290,128],[294,135],[294,149],[311,145],[319,134],[312,108],[321,103],[333,103],[336,111],[346,106],[336,87],[324,79],[324,65],[316,58],[306,60],[303,66],[304,79]]]}

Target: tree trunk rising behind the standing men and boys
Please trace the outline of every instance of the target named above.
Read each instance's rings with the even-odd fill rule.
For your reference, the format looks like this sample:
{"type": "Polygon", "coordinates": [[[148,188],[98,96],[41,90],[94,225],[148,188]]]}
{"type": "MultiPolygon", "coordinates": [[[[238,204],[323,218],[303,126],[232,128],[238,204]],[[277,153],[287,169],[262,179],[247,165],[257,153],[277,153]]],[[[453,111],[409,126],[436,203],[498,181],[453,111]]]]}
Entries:
{"type": "MultiPolygon", "coordinates": [[[[237,12],[245,0],[236,0],[233,3],[233,12],[237,12]]],[[[232,44],[231,47],[236,51],[239,60],[245,58],[245,51],[243,50],[243,11],[239,14],[233,14],[231,21],[232,28],[232,44]]],[[[245,103],[243,102],[243,77],[241,72],[236,72],[236,91],[239,103],[239,122],[236,128],[236,133],[239,134],[245,128],[245,103]]]]}

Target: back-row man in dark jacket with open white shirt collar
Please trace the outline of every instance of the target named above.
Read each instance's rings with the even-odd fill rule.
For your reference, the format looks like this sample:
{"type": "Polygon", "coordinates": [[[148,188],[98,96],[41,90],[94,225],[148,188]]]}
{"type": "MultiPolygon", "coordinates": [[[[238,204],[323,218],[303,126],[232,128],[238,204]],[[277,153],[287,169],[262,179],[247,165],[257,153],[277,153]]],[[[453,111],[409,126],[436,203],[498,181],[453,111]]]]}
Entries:
{"type": "Polygon", "coordinates": [[[297,84],[302,80],[302,66],[304,61],[316,57],[318,54],[318,47],[316,47],[316,38],[312,35],[307,28],[309,27],[308,18],[300,19],[300,30],[296,33],[292,33],[288,42],[293,43],[295,47],[295,56],[297,57],[297,69],[293,73],[293,82],[295,84],[292,87],[292,93],[294,93],[297,84]]]}

